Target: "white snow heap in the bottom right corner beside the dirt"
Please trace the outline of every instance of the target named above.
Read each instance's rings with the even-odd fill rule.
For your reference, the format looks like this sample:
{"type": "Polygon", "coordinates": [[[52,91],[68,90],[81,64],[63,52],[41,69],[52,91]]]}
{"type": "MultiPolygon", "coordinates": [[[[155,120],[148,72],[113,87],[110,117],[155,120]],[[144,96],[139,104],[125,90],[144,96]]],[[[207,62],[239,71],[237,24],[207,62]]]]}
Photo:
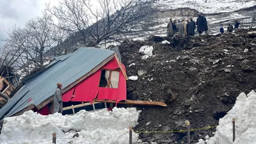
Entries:
{"type": "MultiPolygon", "coordinates": [[[[253,144],[256,138],[256,93],[251,91],[246,95],[240,93],[236,104],[228,111],[227,115],[220,119],[216,128],[216,134],[209,138],[207,144],[253,144]],[[232,142],[232,118],[236,120],[236,140],[232,142]]],[[[197,144],[205,144],[206,141],[199,140],[197,144]]]]}

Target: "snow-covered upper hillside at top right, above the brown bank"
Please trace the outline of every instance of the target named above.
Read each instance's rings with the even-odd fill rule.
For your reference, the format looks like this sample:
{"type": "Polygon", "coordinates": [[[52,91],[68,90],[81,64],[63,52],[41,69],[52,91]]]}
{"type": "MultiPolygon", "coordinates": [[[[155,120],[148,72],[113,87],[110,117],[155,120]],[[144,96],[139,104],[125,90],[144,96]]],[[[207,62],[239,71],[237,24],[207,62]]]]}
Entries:
{"type": "Polygon", "coordinates": [[[192,8],[202,13],[233,12],[255,6],[255,0],[160,0],[156,6],[161,10],[192,8]]]}

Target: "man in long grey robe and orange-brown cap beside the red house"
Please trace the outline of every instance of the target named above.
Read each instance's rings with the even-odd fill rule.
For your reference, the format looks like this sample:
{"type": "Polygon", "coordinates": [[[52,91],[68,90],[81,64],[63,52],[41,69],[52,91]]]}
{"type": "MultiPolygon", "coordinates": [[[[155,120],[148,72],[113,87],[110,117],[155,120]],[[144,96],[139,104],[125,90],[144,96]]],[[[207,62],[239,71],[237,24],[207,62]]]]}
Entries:
{"type": "Polygon", "coordinates": [[[61,113],[63,112],[63,103],[62,103],[62,94],[61,94],[61,88],[62,84],[57,83],[57,89],[56,92],[54,93],[54,98],[53,98],[53,104],[54,104],[54,113],[61,113]]]}

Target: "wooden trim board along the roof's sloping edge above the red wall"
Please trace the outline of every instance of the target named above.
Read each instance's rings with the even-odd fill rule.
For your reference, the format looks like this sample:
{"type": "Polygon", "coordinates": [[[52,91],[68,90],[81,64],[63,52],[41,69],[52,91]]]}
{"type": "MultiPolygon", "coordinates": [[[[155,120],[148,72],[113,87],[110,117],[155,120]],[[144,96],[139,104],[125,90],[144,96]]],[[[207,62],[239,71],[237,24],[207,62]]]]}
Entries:
{"type": "MultiPolygon", "coordinates": [[[[86,79],[88,76],[90,76],[91,74],[93,74],[94,72],[96,72],[97,70],[99,70],[101,67],[103,67],[104,65],[106,65],[106,63],[108,63],[108,61],[112,60],[112,58],[114,58],[115,54],[111,54],[111,56],[109,56],[108,58],[106,58],[106,60],[102,61],[102,63],[100,63],[99,65],[97,65],[95,68],[93,68],[90,72],[88,72],[87,74],[84,74],[84,76],[80,77],[79,79],[77,79],[76,81],[74,81],[74,83],[69,84],[68,86],[66,86],[65,88],[63,88],[61,90],[62,93],[67,92],[68,90],[70,90],[70,88],[73,88],[74,86],[76,86],[76,84],[80,83],[81,81],[83,81],[84,79],[86,79]]],[[[61,81],[60,81],[61,83],[61,81]]],[[[46,99],[44,100],[44,102],[41,102],[41,104],[39,104],[38,106],[36,106],[37,109],[41,109],[44,106],[46,106],[47,104],[49,104],[50,102],[52,102],[53,100],[53,95],[50,97],[51,99],[46,99]]]]}

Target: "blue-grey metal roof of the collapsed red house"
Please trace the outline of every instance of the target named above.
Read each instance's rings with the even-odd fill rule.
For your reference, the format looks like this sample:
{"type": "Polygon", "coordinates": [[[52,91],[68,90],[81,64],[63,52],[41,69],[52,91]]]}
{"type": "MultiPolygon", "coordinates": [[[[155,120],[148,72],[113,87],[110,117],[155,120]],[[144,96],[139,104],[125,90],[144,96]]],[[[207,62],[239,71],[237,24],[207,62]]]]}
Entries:
{"type": "Polygon", "coordinates": [[[106,49],[86,47],[55,58],[45,70],[24,81],[25,84],[19,92],[0,109],[0,119],[6,113],[6,116],[12,116],[30,104],[38,106],[54,94],[57,83],[61,83],[65,88],[114,53],[106,49]]]}

